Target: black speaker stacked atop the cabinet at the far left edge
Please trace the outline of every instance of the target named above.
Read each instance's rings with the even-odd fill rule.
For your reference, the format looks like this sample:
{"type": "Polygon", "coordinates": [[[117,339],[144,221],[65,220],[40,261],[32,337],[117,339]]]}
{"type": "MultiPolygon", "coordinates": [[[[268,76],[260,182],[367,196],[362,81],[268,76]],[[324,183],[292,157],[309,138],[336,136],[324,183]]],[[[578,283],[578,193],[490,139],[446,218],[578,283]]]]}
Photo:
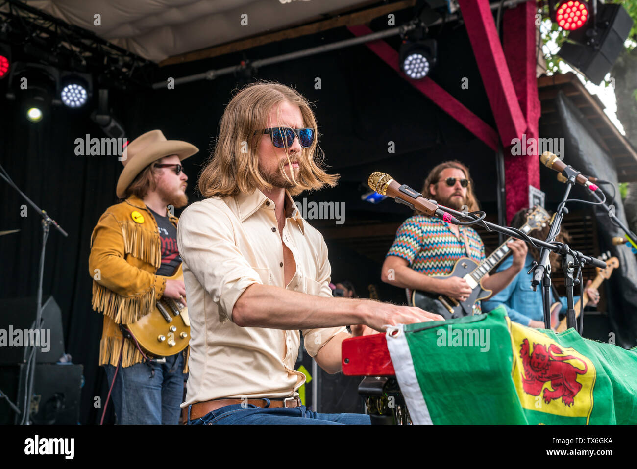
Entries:
{"type": "MultiPolygon", "coordinates": [[[[37,309],[36,298],[3,298],[0,299],[0,364],[18,364],[27,362],[27,351],[31,347],[24,347],[25,336],[32,336],[35,329],[37,309]],[[27,331],[25,333],[24,331],[27,331]],[[32,331],[32,332],[31,332],[32,331]],[[21,340],[18,341],[18,338],[21,340]],[[15,346],[20,342],[22,346],[15,346]]],[[[52,296],[42,297],[42,326],[48,343],[46,347],[37,347],[36,361],[38,363],[57,363],[64,355],[64,335],[62,335],[62,315],[60,307],[52,296]],[[43,351],[45,350],[45,351],[43,351]]],[[[32,336],[34,337],[34,336],[32,336]]],[[[41,345],[44,345],[41,342],[41,345]]],[[[2,388],[0,388],[2,389],[2,388]]]]}

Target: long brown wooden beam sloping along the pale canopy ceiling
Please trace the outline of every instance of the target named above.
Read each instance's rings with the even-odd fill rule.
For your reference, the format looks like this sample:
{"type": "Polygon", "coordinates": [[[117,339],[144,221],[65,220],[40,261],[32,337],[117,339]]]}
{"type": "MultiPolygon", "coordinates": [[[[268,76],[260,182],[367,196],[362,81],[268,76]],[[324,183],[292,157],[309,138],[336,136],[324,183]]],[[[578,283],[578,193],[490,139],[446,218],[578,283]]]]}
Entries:
{"type": "Polygon", "coordinates": [[[330,18],[329,20],[305,24],[290,29],[284,29],[283,31],[262,34],[261,36],[252,36],[251,38],[245,38],[223,45],[208,47],[205,49],[196,50],[194,52],[187,52],[186,54],[173,55],[172,57],[168,57],[168,59],[164,59],[159,62],[159,66],[163,67],[166,65],[199,61],[201,59],[210,59],[211,57],[217,57],[218,55],[230,54],[231,52],[238,52],[240,50],[262,46],[271,42],[298,38],[300,36],[306,36],[308,34],[315,34],[316,32],[320,31],[327,31],[327,29],[334,29],[336,27],[347,25],[364,24],[370,22],[374,18],[388,15],[389,13],[392,13],[394,11],[400,11],[404,10],[405,8],[410,8],[415,4],[416,0],[403,0],[388,5],[378,6],[376,8],[369,8],[369,10],[357,11],[356,13],[351,13],[350,15],[342,15],[336,18],[330,18]]]}

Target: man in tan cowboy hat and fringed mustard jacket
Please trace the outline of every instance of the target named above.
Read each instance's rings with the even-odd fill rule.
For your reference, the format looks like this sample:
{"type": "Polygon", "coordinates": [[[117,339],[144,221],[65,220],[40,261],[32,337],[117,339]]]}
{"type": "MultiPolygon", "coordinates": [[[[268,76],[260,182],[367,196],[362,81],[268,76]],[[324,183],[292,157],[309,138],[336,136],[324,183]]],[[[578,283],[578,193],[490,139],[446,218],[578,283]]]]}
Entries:
{"type": "Polygon", "coordinates": [[[166,363],[148,354],[146,360],[124,339],[119,324],[138,321],[162,296],[185,302],[183,280],[167,279],[181,263],[178,219],[169,206],[187,204],[181,162],[198,151],[185,141],[166,140],[159,130],[133,140],[117,181],[117,196],[124,201],[106,209],[91,236],[92,306],[104,314],[99,364],[120,424],[178,423],[185,353],[166,357],[166,363]]]}

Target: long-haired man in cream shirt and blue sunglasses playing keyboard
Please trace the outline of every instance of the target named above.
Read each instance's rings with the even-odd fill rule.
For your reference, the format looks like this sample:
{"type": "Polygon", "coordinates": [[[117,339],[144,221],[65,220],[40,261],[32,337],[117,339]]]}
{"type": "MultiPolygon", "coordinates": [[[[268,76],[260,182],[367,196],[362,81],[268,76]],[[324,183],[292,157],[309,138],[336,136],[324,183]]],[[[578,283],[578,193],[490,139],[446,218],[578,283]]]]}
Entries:
{"type": "Polygon", "coordinates": [[[189,424],[369,424],[362,414],[306,409],[294,370],[304,347],[328,373],[341,342],[385,324],[435,321],[419,308],[333,298],[323,237],[292,196],[336,184],[318,156],[317,122],[301,94],[252,83],[225,108],[199,178],[206,196],[178,227],[191,323],[189,424]]]}

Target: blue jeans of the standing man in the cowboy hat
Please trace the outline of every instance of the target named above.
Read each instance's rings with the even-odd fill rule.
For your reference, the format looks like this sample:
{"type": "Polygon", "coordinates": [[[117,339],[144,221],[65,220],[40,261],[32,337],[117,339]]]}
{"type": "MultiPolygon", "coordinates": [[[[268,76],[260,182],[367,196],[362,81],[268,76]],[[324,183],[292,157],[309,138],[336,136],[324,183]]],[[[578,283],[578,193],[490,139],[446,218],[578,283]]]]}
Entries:
{"type": "MultiPolygon", "coordinates": [[[[104,365],[108,387],[115,366],[104,365]]],[[[183,402],[183,355],[166,357],[166,363],[138,363],[120,368],[111,400],[117,423],[122,425],[177,425],[183,402]]]]}

